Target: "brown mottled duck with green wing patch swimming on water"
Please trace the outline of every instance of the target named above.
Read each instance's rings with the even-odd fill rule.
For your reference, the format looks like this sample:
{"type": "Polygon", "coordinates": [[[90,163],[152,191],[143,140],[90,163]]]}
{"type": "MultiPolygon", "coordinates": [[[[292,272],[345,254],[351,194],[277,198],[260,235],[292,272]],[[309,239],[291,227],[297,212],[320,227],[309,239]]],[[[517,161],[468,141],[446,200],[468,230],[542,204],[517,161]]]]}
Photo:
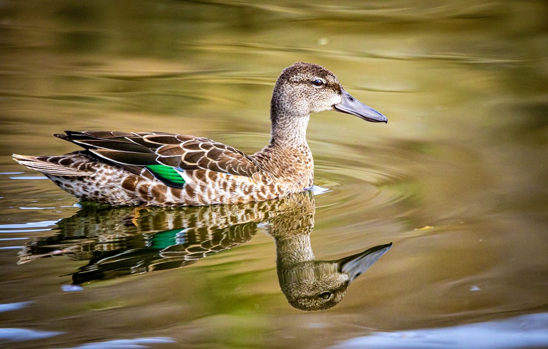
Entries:
{"type": "Polygon", "coordinates": [[[163,132],[65,131],[83,150],[60,156],[13,155],[81,201],[111,206],[200,206],[266,201],[310,190],[306,142],[312,113],[334,110],[387,122],[351,96],[327,68],[296,62],[272,92],[271,137],[247,155],[209,138],[163,132]]]}

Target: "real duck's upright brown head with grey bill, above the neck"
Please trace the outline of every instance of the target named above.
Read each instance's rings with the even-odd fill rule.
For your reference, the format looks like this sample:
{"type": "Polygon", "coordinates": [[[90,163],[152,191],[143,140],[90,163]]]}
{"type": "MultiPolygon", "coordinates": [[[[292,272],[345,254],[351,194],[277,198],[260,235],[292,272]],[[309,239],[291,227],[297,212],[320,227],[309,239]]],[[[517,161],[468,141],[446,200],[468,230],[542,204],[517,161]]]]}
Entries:
{"type": "Polygon", "coordinates": [[[280,114],[309,116],[324,110],[355,115],[370,122],[387,122],[384,115],[345,91],[339,79],[326,68],[305,62],[285,68],[272,94],[272,121],[280,114]]]}

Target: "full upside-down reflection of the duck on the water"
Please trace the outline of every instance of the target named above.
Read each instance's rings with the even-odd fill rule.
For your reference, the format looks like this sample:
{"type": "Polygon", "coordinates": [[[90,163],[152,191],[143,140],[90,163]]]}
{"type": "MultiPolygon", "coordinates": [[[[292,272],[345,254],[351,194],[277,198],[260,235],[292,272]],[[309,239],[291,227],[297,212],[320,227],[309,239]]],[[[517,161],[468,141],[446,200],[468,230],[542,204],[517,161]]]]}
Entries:
{"type": "Polygon", "coordinates": [[[392,244],[339,260],[316,260],[310,243],[315,211],[310,191],[241,205],[84,208],[59,221],[54,236],[26,244],[19,263],[58,255],[89,260],[72,274],[73,284],[82,284],[189,265],[241,245],[264,229],[276,241],[278,281],[289,304],[324,310],[338,304],[350,283],[392,244]]]}

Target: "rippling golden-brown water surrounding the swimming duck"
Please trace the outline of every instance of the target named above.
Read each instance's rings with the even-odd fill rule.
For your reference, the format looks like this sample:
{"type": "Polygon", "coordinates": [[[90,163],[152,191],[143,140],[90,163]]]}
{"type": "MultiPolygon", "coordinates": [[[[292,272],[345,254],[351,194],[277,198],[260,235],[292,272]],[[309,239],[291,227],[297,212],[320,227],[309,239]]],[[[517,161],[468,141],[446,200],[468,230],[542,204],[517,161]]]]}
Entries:
{"type": "Polygon", "coordinates": [[[547,13],[541,1],[0,3],[0,343],[548,347],[547,13]],[[51,136],[65,129],[254,152],[295,61],[326,66],[389,118],[312,116],[327,189],[315,196],[81,208],[10,159],[75,150],[51,136]],[[302,228],[297,255],[324,269],[393,247],[338,304],[302,311],[277,268],[283,233],[255,221],[266,216],[302,228]]]}

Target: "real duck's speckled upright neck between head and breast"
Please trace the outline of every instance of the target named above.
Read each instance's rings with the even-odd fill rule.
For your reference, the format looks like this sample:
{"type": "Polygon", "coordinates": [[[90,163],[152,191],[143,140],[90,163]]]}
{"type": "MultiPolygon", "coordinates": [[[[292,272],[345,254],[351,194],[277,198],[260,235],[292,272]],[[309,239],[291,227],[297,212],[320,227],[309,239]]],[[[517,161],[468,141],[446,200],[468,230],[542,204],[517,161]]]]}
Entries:
{"type": "Polygon", "coordinates": [[[302,112],[302,106],[295,106],[279,88],[274,90],[270,103],[270,121],[272,131],[270,144],[273,146],[308,147],[306,143],[306,128],[310,114],[302,112]]]}

